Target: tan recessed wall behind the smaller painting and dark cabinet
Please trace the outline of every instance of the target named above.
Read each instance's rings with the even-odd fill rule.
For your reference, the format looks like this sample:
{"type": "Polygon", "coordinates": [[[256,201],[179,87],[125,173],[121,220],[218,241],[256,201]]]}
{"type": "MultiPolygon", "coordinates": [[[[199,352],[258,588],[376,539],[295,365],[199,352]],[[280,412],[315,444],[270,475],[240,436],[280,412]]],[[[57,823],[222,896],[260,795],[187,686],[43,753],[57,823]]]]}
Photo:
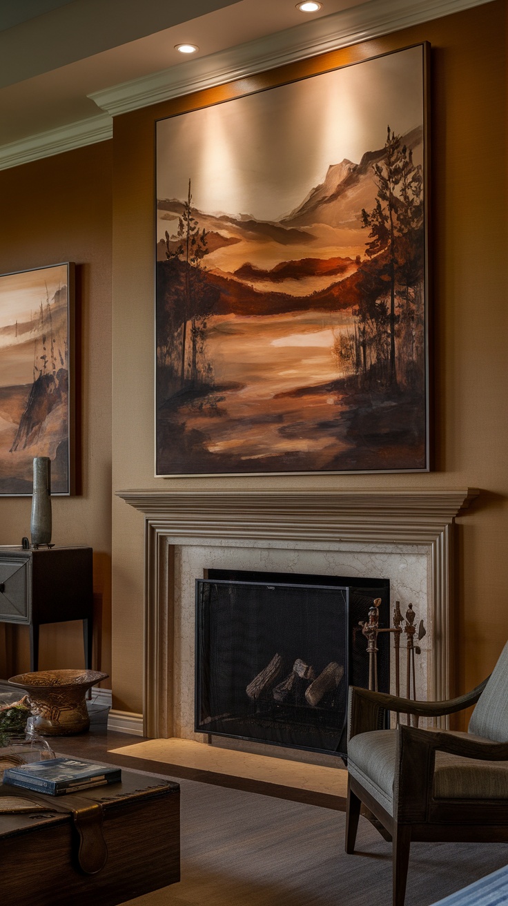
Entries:
{"type": "MultiPolygon", "coordinates": [[[[53,542],[94,550],[94,663],[110,672],[112,142],[0,173],[0,273],[76,263],[78,495],[53,497],[53,542]],[[81,486],[81,487],[80,487],[81,486]]],[[[0,544],[30,535],[31,498],[0,497],[0,544]]],[[[72,602],[70,602],[72,606],[72,602]]],[[[82,623],[41,628],[40,668],[81,667],[82,623]]],[[[28,670],[28,631],[0,627],[0,676],[28,670]]],[[[110,686],[106,680],[104,686],[110,686]]]]}

